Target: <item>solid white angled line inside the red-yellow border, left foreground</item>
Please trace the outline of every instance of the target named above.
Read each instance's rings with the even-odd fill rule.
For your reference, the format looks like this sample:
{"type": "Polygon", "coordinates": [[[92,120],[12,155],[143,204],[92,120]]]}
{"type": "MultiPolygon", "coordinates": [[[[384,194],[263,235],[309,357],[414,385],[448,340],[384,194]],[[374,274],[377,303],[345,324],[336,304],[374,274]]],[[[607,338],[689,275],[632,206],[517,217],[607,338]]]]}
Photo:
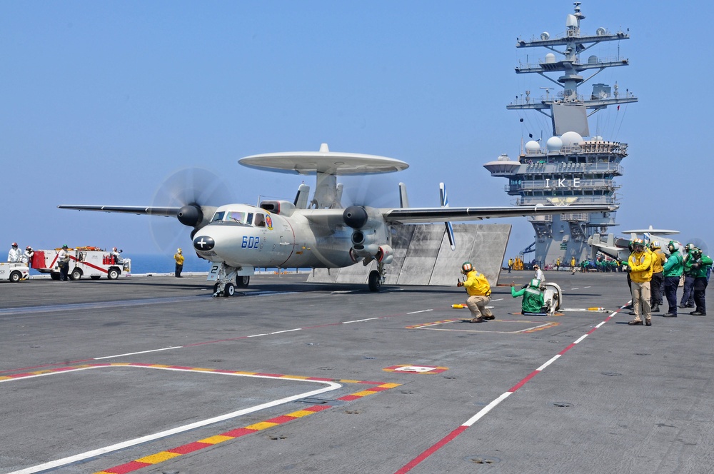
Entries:
{"type": "MultiPolygon", "coordinates": [[[[155,369],[159,369],[159,370],[177,370],[177,371],[191,372],[191,373],[212,373],[215,375],[237,375],[237,376],[241,376],[241,377],[272,378],[274,380],[295,380],[296,382],[323,383],[328,386],[325,388],[320,388],[318,390],[311,390],[310,392],[306,392],[306,393],[299,393],[298,395],[291,395],[289,397],[281,398],[279,400],[273,400],[271,402],[261,403],[261,405],[255,405],[255,406],[252,406],[249,408],[243,408],[242,410],[237,410],[237,411],[233,411],[231,413],[226,413],[225,415],[218,415],[218,416],[214,416],[213,418],[207,418],[206,420],[196,421],[196,423],[191,423],[191,424],[183,425],[183,426],[177,426],[176,428],[171,428],[170,430],[160,431],[159,433],[142,436],[141,438],[134,438],[133,440],[126,440],[121,443],[116,443],[113,445],[105,446],[104,448],[86,451],[85,453],[80,453],[80,454],[76,454],[73,456],[69,456],[67,458],[61,458],[58,460],[50,461],[49,463],[34,465],[30,468],[25,468],[25,469],[21,469],[21,470],[15,470],[9,474],[31,474],[31,473],[39,473],[43,470],[48,470],[48,469],[52,469],[52,468],[59,468],[61,466],[67,465],[67,464],[76,463],[76,462],[79,462],[81,460],[85,460],[88,458],[94,458],[95,456],[103,455],[106,453],[111,453],[116,450],[130,448],[131,446],[138,445],[141,443],[147,443],[149,441],[158,440],[160,438],[166,438],[166,436],[175,435],[177,433],[183,433],[184,431],[193,430],[195,428],[201,428],[202,426],[211,425],[212,423],[217,423],[218,421],[230,420],[231,418],[237,418],[238,416],[241,416],[241,415],[246,415],[248,413],[254,413],[256,411],[263,410],[264,408],[271,408],[273,406],[282,405],[283,403],[292,402],[295,400],[299,400],[301,398],[307,398],[307,397],[311,397],[314,395],[319,395],[320,393],[337,390],[338,388],[342,387],[342,385],[340,385],[339,383],[327,382],[325,380],[305,380],[305,379],[300,379],[300,378],[284,378],[284,377],[278,378],[278,377],[268,377],[266,375],[246,375],[246,374],[240,374],[240,373],[206,372],[203,370],[199,371],[199,370],[168,368],[168,367],[146,367],[146,366],[139,367],[136,365],[99,365],[99,366],[95,366],[95,367],[81,367],[81,368],[77,368],[75,370],[87,370],[90,368],[107,368],[107,367],[110,367],[110,368],[111,367],[155,368],[155,369]]],[[[13,378],[13,379],[9,379],[9,380],[25,380],[26,378],[31,378],[33,376],[58,375],[61,373],[74,372],[75,370],[64,370],[62,372],[31,375],[29,377],[13,378]]],[[[0,380],[0,383],[7,382],[9,380],[0,380]]]]}

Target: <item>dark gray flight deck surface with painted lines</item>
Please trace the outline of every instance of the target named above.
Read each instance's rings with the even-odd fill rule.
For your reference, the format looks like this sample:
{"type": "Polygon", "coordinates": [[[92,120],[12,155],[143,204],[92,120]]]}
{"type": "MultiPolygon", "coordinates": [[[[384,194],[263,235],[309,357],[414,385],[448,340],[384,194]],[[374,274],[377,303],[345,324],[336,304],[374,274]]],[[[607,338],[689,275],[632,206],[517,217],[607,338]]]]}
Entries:
{"type": "Polygon", "coordinates": [[[498,286],[496,321],[470,324],[456,286],[369,293],[295,275],[253,277],[233,298],[211,298],[201,276],[0,283],[0,473],[92,451],[52,472],[714,472],[712,316],[628,326],[626,311],[610,317],[630,299],[623,273],[546,278],[563,308],[609,311],[524,317],[498,286]],[[94,367],[116,363],[162,367],[94,367]]]}

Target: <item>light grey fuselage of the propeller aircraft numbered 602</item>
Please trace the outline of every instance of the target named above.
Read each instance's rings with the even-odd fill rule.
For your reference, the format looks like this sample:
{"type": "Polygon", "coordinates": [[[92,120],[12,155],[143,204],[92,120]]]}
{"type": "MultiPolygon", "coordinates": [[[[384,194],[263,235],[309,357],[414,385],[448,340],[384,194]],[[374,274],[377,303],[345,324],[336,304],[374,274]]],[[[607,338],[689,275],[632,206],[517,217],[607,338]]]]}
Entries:
{"type": "Polygon", "coordinates": [[[352,229],[281,216],[247,204],[221,206],[193,238],[198,256],[233,267],[340,268],[350,256],[352,229]]]}

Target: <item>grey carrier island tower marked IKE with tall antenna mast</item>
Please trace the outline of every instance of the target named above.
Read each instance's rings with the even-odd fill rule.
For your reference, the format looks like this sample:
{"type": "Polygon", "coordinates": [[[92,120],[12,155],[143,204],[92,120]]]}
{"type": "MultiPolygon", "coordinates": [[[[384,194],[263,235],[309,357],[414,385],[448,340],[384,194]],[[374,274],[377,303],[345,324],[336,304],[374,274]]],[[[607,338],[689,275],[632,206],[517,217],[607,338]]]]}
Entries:
{"type": "MultiPolygon", "coordinates": [[[[622,94],[617,83],[592,84],[585,95],[578,87],[583,89],[587,81],[605,69],[629,64],[628,59],[619,56],[619,48],[617,56],[608,58],[585,51],[630,36],[623,31],[610,33],[601,27],[594,34],[581,31],[580,21],[585,15],[579,2],[574,5],[574,13],[566,17],[562,37],[551,38],[544,31],[538,38],[519,38],[516,43],[517,48],[548,51],[534,64],[519,64],[516,73],[539,74],[560,89],[551,92],[553,86],[541,87],[545,94],[539,97],[527,90],[506,107],[547,116],[553,127],[550,138],[533,139],[533,133],[529,133],[530,140],[525,145],[521,142],[517,160],[503,154],[483,165],[491,176],[508,178],[506,192],[518,196],[518,206],[618,203],[619,186],[613,180],[623,174],[620,161],[628,155],[627,143],[610,141],[598,135],[597,129],[591,132],[588,119],[608,106],[616,107],[622,116],[620,105],[636,102],[637,98],[629,90],[622,94]]],[[[529,221],[535,231],[535,242],[526,251],[535,248],[533,260],[541,265],[555,263],[557,258],[563,263],[569,263],[573,257],[578,263],[583,261],[590,256],[588,237],[608,233],[610,226],[618,225],[615,211],[533,216],[529,221]]]]}

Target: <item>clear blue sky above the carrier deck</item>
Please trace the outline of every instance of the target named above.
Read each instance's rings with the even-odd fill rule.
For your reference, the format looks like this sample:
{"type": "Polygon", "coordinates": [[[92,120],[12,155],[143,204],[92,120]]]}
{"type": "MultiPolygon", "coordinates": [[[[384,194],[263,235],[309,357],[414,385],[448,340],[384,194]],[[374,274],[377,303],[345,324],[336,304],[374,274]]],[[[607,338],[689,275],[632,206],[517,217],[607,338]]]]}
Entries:
{"type": "MultiPolygon", "coordinates": [[[[165,218],[56,206],[149,205],[188,166],[223,176],[236,202],[292,199],[303,177],[237,160],[322,142],[410,163],[385,178],[395,199],[406,182],[413,206],[438,205],[440,181],[452,206],[508,205],[507,181],[483,163],[515,158],[528,133],[550,136],[545,117],[506,110],[526,89],[550,85],[515,74],[526,54],[544,54],[516,49],[516,38],[562,34],[572,11],[571,1],[526,0],[3,0],[0,248],[159,253],[152,220],[161,221],[154,232],[176,231],[176,245],[188,247],[190,229],[165,218]]],[[[583,31],[631,36],[598,51],[619,49],[630,66],[595,80],[640,99],[597,125],[629,143],[619,229],[652,224],[710,241],[714,54],[698,24],[708,4],[586,0],[582,11],[583,31]]],[[[501,222],[513,224],[509,254],[533,241],[525,218],[501,222]]]]}

